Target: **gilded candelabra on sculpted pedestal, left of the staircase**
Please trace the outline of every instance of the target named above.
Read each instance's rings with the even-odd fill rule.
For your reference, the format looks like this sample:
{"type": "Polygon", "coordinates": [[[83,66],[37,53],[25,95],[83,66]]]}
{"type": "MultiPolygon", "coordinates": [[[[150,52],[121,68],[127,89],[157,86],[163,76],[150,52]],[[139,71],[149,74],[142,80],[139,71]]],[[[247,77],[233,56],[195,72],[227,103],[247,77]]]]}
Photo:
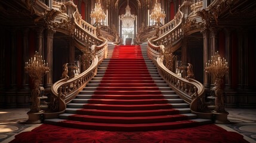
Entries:
{"type": "Polygon", "coordinates": [[[29,62],[25,63],[24,67],[26,73],[32,79],[33,89],[31,91],[31,105],[30,111],[27,113],[29,115],[29,120],[27,123],[41,123],[41,114],[42,110],[40,109],[40,96],[42,87],[39,85],[42,82],[42,76],[49,72],[48,63],[45,63],[45,60],[42,60],[42,55],[39,55],[38,52],[35,53],[29,62]]]}

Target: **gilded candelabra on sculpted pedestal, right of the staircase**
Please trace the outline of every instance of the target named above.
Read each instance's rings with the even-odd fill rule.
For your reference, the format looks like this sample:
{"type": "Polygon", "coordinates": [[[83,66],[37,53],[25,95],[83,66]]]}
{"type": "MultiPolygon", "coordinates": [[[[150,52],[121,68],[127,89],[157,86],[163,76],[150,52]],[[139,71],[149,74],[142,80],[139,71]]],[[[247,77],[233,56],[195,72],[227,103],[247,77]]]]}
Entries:
{"type": "Polygon", "coordinates": [[[215,79],[214,87],[211,91],[215,94],[215,122],[217,123],[229,123],[227,120],[227,111],[224,109],[224,80],[223,77],[229,70],[227,66],[227,61],[224,58],[221,58],[218,54],[218,51],[211,56],[211,61],[209,60],[206,63],[205,71],[206,73],[211,73],[213,79],[215,79]]]}

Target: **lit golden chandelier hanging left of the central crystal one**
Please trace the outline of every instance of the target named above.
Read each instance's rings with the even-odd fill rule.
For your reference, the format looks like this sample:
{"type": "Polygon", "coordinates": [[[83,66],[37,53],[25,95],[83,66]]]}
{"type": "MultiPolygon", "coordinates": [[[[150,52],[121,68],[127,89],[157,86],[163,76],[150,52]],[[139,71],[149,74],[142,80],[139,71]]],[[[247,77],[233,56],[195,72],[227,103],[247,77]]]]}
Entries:
{"type": "Polygon", "coordinates": [[[95,19],[95,24],[97,25],[100,23],[101,20],[104,20],[106,18],[106,14],[101,8],[100,0],[95,3],[95,8],[93,11],[91,11],[91,17],[95,19]]]}

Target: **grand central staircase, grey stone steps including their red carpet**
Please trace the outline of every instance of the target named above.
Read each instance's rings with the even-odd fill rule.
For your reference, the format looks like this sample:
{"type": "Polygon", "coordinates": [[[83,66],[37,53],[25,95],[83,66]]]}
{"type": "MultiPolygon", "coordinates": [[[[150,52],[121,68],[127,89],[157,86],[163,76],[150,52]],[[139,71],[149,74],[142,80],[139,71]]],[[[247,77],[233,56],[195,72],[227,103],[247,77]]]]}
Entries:
{"type": "Polygon", "coordinates": [[[109,46],[97,75],[58,119],[44,123],[80,129],[141,131],[211,123],[190,113],[162,80],[145,45],[109,46]]]}

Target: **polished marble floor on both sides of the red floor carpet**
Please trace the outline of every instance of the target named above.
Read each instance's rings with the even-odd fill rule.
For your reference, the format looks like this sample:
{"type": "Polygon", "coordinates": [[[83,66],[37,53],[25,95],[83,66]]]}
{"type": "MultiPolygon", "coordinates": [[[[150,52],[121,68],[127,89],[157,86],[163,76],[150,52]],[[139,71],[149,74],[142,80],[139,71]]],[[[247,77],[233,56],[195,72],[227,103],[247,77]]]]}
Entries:
{"type": "MultiPolygon", "coordinates": [[[[256,110],[239,108],[226,108],[226,110],[229,112],[228,119],[231,123],[217,125],[226,130],[238,132],[248,142],[256,143],[256,110]]],[[[26,125],[28,111],[29,108],[0,108],[0,142],[10,142],[18,133],[30,131],[41,125],[26,125]]]]}

